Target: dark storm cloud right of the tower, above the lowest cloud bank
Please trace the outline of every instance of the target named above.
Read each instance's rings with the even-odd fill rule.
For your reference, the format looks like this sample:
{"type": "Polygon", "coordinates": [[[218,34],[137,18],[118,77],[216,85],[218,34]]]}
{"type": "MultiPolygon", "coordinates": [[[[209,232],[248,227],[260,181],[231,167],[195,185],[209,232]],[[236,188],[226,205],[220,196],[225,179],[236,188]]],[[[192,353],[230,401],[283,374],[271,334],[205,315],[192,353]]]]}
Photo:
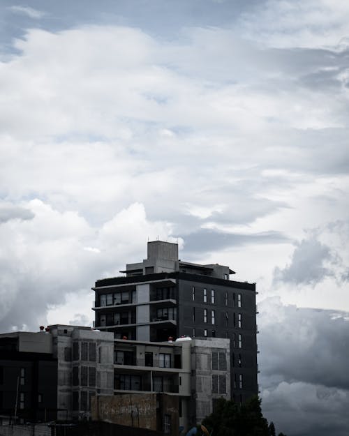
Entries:
{"type": "Polygon", "coordinates": [[[276,297],[258,308],[262,378],[349,389],[349,313],[283,306],[276,297]]]}

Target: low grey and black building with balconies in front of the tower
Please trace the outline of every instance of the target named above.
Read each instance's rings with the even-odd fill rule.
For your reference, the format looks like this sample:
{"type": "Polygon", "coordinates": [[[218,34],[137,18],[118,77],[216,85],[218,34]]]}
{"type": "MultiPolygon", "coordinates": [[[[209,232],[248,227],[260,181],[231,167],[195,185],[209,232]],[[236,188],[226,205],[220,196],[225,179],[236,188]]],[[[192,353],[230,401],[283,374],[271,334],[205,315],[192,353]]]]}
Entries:
{"type": "Polygon", "coordinates": [[[40,333],[2,334],[0,349],[0,414],[22,421],[91,419],[95,402],[100,419],[147,422],[154,410],[140,413],[140,405],[148,395],[156,425],[145,428],[178,433],[200,423],[217,398],[230,398],[229,339],[135,341],[56,324],[40,333]]]}

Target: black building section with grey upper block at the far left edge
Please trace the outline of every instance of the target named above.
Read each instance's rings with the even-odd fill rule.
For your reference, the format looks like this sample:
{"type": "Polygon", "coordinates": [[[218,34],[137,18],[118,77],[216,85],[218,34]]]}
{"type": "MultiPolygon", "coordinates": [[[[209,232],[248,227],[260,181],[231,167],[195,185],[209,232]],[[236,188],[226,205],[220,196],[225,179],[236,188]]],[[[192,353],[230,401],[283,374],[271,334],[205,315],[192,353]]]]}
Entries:
{"type": "Polygon", "coordinates": [[[38,422],[57,416],[57,359],[45,333],[0,335],[0,421],[38,422]]]}

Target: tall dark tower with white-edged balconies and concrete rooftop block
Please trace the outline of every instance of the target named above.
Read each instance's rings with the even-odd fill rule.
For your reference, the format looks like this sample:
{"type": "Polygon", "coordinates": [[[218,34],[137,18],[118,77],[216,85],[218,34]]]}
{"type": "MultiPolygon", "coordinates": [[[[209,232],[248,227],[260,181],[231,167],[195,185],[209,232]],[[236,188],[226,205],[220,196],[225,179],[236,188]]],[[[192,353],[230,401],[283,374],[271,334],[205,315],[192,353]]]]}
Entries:
{"type": "Polygon", "coordinates": [[[114,338],[230,339],[232,399],[258,393],[255,284],[230,280],[228,266],[178,258],[177,243],[148,242],[147,259],[126,276],[97,280],[95,326],[114,338]]]}

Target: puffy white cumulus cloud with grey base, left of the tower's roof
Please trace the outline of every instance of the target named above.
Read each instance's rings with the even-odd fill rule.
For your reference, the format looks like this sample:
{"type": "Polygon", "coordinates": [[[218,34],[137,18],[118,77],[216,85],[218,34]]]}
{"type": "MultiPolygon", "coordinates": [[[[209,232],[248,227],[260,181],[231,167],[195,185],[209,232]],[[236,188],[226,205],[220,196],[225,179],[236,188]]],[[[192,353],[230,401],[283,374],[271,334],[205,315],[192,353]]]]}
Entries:
{"type": "MultiPolygon", "coordinates": [[[[142,204],[119,210],[99,228],[75,211],[59,212],[40,200],[25,207],[33,213],[31,220],[8,220],[0,226],[1,331],[23,325],[36,329],[38,322],[46,325],[47,311],[62,306],[64,312],[70,294],[80,296],[68,309],[75,310],[76,318],[81,299],[91,293],[97,278],[117,276],[126,260],[138,260],[147,236],[168,239],[171,232],[165,223],[150,222],[142,204]],[[85,250],[86,246],[98,248],[99,253],[85,250]]],[[[59,319],[56,310],[50,322],[71,319],[59,319]]]]}

